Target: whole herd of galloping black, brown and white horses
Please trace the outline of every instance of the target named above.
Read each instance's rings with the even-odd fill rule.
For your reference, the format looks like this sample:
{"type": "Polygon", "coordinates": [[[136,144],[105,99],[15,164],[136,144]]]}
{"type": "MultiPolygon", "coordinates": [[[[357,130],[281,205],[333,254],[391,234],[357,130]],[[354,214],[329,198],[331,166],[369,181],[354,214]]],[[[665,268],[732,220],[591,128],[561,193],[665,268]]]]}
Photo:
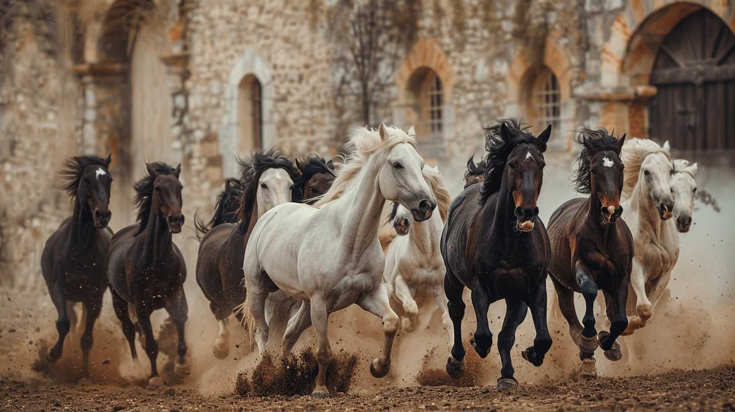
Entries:
{"type": "MultiPolygon", "coordinates": [[[[558,302],[569,324],[580,372],[596,374],[598,347],[607,359],[620,360],[620,335],[644,327],[667,292],[678,232],[689,230],[692,221],[697,164],[672,160],[667,143],[582,129],[573,182],[587,196],[559,206],[546,227],[537,199],[551,125],[536,136],[507,118],[484,133],[485,154],[479,163],[470,157],[465,189],[453,200],[440,171],[424,165],[413,127],[357,129],[352,153],[337,168],[313,154],[292,161],[277,149],[240,160],[240,177],[226,180],[212,219],[195,216],[196,281],[219,326],[213,355],[229,355],[232,317],[261,354],[274,325],[284,325],[284,354],[313,326],[318,375],[312,396],[328,397],[330,313],[356,304],[381,319],[384,344],[370,372],[384,377],[398,330],[423,330],[420,315],[439,310],[450,353],[446,370],[459,377],[465,371],[468,288],[477,318],[470,344],[481,358],[492,346],[488,308],[506,301],[497,343],[498,389],[512,389],[518,382],[510,351],[529,309],[536,337],[521,352],[523,359],[541,366],[551,347],[551,275],[551,305],[558,302]],[[593,313],[598,291],[608,319],[607,330],[599,332],[593,313]],[[575,293],[586,305],[581,323],[575,293]]],[[[162,382],[150,321],[154,310],[165,308],[176,326],[177,371],[189,367],[187,271],[172,238],[184,224],[181,168],[149,163],[134,186],[137,223],[113,234],[107,227],[110,160],[72,157],[62,171],[74,207],[41,257],[58,312],[58,341],[46,358],[61,357],[65,336],[76,324],[72,305],[82,302],[87,373],[92,330],[109,287],[133,358],[136,333],[145,337],[148,384],[156,386],[162,382]]]]}

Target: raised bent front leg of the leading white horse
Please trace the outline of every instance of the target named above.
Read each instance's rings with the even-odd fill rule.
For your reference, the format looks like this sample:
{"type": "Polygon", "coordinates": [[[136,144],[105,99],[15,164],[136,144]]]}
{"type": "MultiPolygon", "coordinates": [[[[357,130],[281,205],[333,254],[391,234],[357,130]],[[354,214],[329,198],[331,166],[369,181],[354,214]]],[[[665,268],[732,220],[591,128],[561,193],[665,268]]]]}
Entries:
{"type": "Polygon", "coordinates": [[[380,358],[373,359],[373,363],[370,363],[370,373],[374,377],[384,377],[390,371],[390,352],[393,338],[398,331],[398,315],[390,308],[385,283],[379,283],[370,294],[362,294],[355,303],[383,321],[383,352],[380,358]]]}

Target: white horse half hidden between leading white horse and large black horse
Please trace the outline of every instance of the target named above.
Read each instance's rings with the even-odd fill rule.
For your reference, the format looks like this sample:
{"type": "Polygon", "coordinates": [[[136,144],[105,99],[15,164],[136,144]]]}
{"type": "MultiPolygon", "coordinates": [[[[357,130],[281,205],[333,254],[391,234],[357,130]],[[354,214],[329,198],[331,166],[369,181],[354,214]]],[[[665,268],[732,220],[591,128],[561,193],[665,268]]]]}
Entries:
{"type": "MultiPolygon", "coordinates": [[[[451,196],[438,168],[425,167],[423,176],[429,182],[434,199],[437,199],[440,213],[434,213],[427,221],[410,223],[411,212],[398,203],[392,205],[389,221],[401,236],[393,239],[387,247],[383,280],[388,287],[391,306],[401,317],[406,332],[417,326],[417,301],[423,304],[433,296],[451,347],[453,327],[444,294],[446,269],[439,248],[451,196]]],[[[427,312],[429,316],[433,313],[427,312]]]]}

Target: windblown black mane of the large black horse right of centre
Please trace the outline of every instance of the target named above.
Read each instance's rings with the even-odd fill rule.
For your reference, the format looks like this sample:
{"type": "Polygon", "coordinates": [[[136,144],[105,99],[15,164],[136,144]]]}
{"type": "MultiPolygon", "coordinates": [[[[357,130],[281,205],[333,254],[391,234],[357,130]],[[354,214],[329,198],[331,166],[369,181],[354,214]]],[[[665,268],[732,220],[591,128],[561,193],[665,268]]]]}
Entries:
{"type": "Polygon", "coordinates": [[[487,154],[483,159],[487,165],[485,171],[485,181],[480,188],[480,196],[478,202],[487,202],[492,193],[500,190],[503,181],[503,170],[505,169],[508,156],[520,143],[533,144],[539,148],[539,151],[546,150],[546,143],[528,132],[529,124],[522,123],[517,118],[503,118],[492,127],[484,127],[485,130],[485,150],[487,154]],[[505,124],[510,131],[508,141],[503,140],[501,127],[505,124]]]}

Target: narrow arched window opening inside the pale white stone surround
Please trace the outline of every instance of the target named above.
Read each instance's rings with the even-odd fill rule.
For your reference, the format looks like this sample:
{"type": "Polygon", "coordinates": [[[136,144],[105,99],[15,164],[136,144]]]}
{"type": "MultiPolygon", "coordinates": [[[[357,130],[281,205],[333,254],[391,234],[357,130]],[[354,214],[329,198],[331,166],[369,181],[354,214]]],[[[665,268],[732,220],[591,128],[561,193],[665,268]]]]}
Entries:
{"type": "Polygon", "coordinates": [[[237,95],[239,149],[240,153],[250,154],[263,146],[262,88],[257,77],[252,74],[243,77],[237,95]]]}

